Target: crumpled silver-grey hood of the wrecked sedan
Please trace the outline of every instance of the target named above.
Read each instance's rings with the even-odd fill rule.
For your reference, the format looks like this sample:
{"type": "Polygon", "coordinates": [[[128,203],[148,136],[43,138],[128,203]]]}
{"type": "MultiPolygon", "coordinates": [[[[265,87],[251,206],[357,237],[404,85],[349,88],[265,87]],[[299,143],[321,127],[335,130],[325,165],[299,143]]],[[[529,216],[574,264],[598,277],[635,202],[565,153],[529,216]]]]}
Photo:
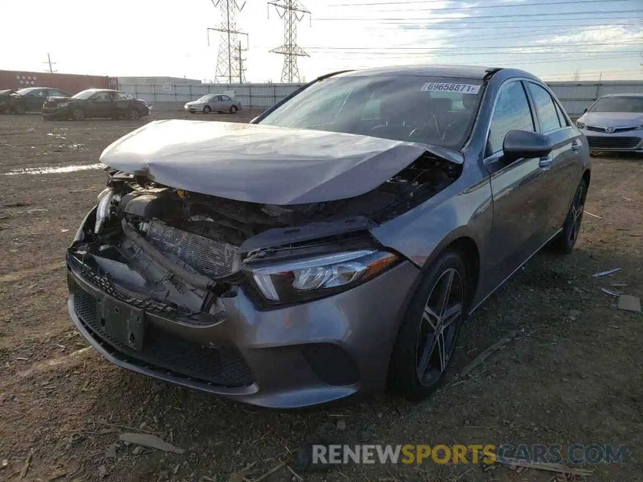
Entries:
{"type": "Polygon", "coordinates": [[[109,145],[100,162],[186,191],[287,205],[367,193],[427,151],[462,162],[458,152],[354,134],[159,120],[109,145]]]}

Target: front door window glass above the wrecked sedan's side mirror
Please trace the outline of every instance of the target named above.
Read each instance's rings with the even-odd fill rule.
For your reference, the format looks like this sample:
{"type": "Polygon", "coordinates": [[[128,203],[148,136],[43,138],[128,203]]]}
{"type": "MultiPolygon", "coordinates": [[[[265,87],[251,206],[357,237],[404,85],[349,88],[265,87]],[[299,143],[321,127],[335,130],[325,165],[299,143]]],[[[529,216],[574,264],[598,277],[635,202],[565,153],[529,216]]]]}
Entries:
{"type": "Polygon", "coordinates": [[[536,131],[527,94],[518,80],[506,84],[498,94],[496,110],[491,119],[487,154],[502,150],[507,132],[514,129],[536,131]]]}

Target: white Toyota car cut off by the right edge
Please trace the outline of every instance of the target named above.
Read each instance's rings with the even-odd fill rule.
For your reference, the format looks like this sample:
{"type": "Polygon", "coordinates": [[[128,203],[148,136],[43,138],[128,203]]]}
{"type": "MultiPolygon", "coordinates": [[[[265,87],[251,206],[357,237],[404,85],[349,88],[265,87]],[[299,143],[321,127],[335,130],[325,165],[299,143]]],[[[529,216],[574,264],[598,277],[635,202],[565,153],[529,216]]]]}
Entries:
{"type": "Polygon", "coordinates": [[[576,121],[590,150],[643,152],[643,94],[608,94],[576,121]]]}

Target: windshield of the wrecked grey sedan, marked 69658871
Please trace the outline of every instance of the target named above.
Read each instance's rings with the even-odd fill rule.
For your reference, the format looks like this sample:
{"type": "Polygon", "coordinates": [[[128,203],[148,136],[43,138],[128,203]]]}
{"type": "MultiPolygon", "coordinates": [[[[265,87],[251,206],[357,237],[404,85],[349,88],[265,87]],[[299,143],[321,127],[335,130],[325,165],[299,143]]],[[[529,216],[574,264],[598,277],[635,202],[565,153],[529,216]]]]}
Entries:
{"type": "Polygon", "coordinates": [[[312,84],[260,121],[459,150],[482,96],[479,80],[347,76],[312,84]]]}

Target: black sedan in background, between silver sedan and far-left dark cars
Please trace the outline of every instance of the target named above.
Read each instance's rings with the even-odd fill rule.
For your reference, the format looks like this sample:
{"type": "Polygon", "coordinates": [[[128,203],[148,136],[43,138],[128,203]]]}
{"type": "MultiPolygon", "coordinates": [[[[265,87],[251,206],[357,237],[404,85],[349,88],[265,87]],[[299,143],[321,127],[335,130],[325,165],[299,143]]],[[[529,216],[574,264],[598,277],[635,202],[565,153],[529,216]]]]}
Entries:
{"type": "Polygon", "coordinates": [[[87,89],[71,97],[50,97],[42,105],[44,120],[113,118],[138,120],[150,113],[150,106],[132,94],[109,89],[87,89]]]}

